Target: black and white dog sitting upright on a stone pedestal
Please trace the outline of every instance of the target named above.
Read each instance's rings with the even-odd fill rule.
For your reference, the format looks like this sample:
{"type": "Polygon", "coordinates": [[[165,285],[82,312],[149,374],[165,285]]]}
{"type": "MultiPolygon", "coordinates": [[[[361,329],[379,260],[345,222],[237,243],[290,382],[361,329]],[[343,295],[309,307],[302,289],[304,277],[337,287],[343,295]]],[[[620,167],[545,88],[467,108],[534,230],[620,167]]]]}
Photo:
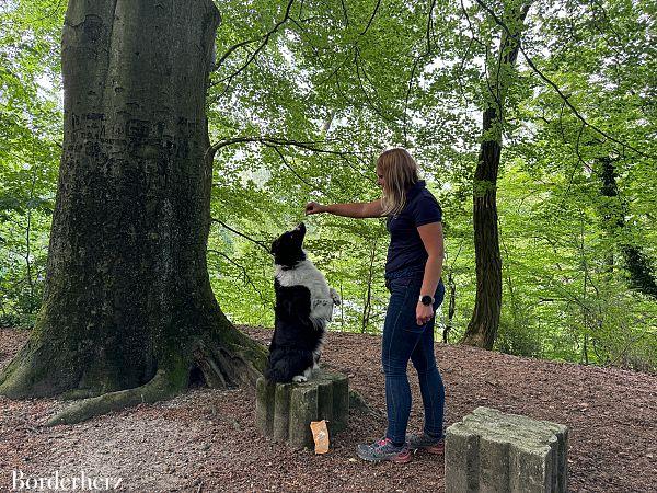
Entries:
{"type": "Polygon", "coordinates": [[[307,381],[318,367],[326,322],[341,299],[303,251],[306,225],[272,243],[276,266],[275,329],[265,378],[276,382],[307,381]]]}

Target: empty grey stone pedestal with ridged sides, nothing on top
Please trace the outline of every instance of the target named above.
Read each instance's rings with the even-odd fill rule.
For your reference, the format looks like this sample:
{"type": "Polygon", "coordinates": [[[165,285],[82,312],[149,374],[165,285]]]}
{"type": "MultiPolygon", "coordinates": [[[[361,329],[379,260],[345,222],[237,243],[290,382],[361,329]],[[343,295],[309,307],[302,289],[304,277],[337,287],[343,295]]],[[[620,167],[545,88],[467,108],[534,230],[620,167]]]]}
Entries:
{"type": "Polygon", "coordinates": [[[447,429],[446,493],[566,493],[568,428],[477,408],[447,429]]]}

